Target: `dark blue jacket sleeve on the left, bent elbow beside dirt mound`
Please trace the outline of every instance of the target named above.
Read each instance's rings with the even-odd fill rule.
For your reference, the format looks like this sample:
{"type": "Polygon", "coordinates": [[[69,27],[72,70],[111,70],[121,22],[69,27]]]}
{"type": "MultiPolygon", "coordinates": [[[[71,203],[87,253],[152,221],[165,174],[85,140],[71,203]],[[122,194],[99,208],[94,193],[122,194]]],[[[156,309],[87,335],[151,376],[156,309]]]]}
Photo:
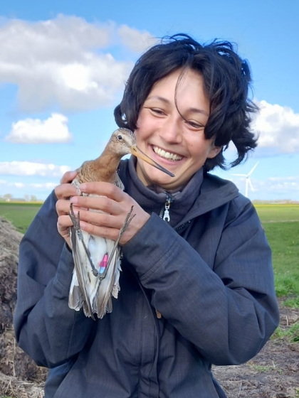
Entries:
{"type": "Polygon", "coordinates": [[[38,365],[54,367],[80,352],[92,321],[68,308],[73,257],[57,231],[53,192],[23,236],[14,328],[19,346],[38,365]]]}

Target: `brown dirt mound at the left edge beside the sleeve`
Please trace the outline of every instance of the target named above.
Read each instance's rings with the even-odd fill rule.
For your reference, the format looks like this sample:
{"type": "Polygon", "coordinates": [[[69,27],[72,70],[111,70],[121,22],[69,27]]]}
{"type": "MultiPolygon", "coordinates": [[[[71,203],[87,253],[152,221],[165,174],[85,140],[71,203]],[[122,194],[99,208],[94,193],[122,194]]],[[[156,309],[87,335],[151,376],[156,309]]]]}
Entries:
{"type": "Polygon", "coordinates": [[[19,243],[23,235],[0,218],[0,395],[42,397],[46,370],[35,365],[16,346],[13,313],[16,306],[16,276],[19,243]],[[33,382],[36,385],[33,385],[33,382]]]}

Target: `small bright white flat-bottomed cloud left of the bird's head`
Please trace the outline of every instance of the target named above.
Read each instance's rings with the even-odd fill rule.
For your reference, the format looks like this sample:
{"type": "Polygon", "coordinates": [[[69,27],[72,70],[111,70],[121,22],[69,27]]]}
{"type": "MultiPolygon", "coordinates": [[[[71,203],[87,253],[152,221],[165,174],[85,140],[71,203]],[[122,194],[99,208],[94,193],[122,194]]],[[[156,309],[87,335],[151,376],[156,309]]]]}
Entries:
{"type": "Polygon", "coordinates": [[[5,141],[17,144],[65,143],[72,139],[68,131],[68,118],[62,114],[52,114],[46,120],[24,119],[13,123],[5,141]]]}

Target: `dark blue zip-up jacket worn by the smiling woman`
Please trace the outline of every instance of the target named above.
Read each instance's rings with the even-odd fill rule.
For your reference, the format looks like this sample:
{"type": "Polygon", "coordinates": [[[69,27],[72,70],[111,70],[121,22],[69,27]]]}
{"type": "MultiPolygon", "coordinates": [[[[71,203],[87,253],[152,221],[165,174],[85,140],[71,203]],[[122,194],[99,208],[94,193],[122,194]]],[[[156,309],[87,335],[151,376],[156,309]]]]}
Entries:
{"type": "Polygon", "coordinates": [[[211,364],[246,362],[270,338],[278,306],[256,210],[229,181],[206,174],[199,188],[175,228],[156,211],[123,247],[119,297],[97,321],[68,308],[73,258],[48,197],[21,242],[14,316],[21,348],[51,368],[46,398],[223,398],[211,364]]]}

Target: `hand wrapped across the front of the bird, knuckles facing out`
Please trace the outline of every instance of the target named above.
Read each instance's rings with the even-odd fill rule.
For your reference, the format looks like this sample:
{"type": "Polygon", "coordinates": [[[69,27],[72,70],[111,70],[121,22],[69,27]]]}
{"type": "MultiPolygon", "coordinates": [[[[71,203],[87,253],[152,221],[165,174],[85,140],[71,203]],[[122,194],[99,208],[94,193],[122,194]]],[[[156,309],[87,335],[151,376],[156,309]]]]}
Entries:
{"type": "Polygon", "coordinates": [[[120,244],[126,244],[150,218],[130,195],[111,183],[84,183],[80,185],[80,190],[90,196],[74,195],[70,202],[80,210],[81,229],[92,235],[117,240],[133,206],[132,215],[135,214],[135,217],[120,240],[120,244]]]}

